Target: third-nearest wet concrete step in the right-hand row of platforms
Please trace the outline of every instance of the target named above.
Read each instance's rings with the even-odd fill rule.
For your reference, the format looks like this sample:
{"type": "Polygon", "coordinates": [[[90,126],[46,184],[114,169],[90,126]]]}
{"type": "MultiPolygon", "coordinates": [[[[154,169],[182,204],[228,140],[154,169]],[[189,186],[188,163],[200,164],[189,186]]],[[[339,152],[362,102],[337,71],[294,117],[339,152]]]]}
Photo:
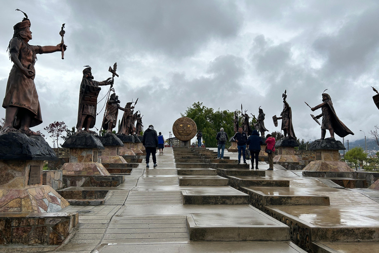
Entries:
{"type": "Polygon", "coordinates": [[[270,186],[270,187],[289,187],[290,180],[265,179],[258,176],[227,176],[229,185],[239,189],[244,186],[270,186]]]}

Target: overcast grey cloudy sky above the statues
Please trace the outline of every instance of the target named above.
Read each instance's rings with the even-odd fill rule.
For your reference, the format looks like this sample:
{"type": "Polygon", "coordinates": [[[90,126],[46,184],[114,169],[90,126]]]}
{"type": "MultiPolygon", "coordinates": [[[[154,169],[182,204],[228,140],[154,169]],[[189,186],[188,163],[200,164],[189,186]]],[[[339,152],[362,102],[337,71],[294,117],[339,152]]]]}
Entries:
{"type": "MultiPolygon", "coordinates": [[[[370,87],[379,89],[377,0],[1,2],[0,94],[12,67],[6,48],[13,25],[23,17],[15,9],[28,14],[33,45],[58,44],[66,23],[65,59],[60,53],[38,55],[35,84],[43,123],[34,130],[43,132],[54,121],[75,126],[83,65],[103,81],[111,77],[114,62],[121,106],[138,97],[145,127],[152,124],[165,137],[180,113],[197,101],[229,111],[243,103],[253,114],[262,106],[266,128],[280,130],[271,117],[279,116],[285,89],[300,139],[320,137],[304,101],[321,103],[324,89],[355,133],[345,139],[361,139],[359,130],[368,135],[379,124],[370,87]]],[[[107,91],[103,87],[99,97],[107,91]]],[[[102,107],[101,102],[98,112],[102,107]]],[[[103,112],[97,128],[102,117],[103,112]]]]}

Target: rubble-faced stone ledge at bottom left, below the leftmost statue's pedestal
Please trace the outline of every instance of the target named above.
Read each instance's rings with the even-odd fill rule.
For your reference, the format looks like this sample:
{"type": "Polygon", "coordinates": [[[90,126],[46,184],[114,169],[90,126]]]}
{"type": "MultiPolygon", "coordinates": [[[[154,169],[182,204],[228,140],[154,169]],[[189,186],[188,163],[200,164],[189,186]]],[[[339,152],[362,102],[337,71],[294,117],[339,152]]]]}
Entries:
{"type": "Polygon", "coordinates": [[[0,244],[61,245],[78,219],[77,212],[0,213],[0,244]]]}

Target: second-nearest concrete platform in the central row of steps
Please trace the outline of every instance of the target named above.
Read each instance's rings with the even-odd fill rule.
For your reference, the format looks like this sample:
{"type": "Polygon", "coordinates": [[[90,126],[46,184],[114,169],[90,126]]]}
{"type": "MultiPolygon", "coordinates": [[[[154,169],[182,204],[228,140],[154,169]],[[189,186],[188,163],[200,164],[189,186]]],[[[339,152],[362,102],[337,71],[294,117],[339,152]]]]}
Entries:
{"type": "Polygon", "coordinates": [[[182,191],[184,205],[246,205],[249,195],[230,186],[198,186],[182,191]]]}

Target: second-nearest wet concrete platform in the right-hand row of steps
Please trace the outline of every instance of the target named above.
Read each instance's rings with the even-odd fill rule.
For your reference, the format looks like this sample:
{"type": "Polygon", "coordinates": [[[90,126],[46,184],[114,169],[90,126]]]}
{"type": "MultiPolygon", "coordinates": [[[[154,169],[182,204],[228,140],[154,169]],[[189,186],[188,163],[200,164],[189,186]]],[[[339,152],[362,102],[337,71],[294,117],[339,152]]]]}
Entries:
{"type": "Polygon", "coordinates": [[[240,190],[250,195],[251,205],[259,210],[264,210],[264,206],[275,205],[330,205],[328,196],[314,195],[311,189],[297,187],[241,187],[240,190]]]}

